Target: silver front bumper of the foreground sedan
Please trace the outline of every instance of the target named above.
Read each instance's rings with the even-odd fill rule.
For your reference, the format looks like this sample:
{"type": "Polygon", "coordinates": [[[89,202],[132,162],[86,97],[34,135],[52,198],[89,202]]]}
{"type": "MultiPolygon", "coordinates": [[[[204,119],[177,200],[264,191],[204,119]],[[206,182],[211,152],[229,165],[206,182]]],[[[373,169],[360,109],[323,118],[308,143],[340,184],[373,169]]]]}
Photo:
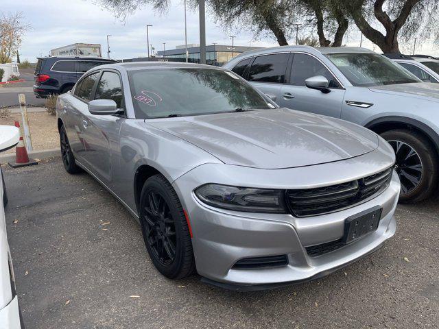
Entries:
{"type": "MultiPolygon", "coordinates": [[[[337,175],[334,171],[329,172],[337,175]]],[[[344,171],[340,173],[346,175],[344,171]]],[[[206,175],[212,177],[215,173],[208,170],[206,175]]],[[[173,185],[189,214],[197,271],[206,282],[220,287],[256,290],[314,280],[374,252],[396,231],[394,210],[400,191],[396,173],[383,193],[363,204],[305,218],[219,210],[202,204],[193,193],[181,193],[188,191],[187,188],[193,191],[198,184],[195,181],[204,180],[203,176],[202,169],[194,169],[173,185]],[[383,208],[375,232],[327,254],[317,257],[307,254],[305,247],[341,239],[346,218],[375,206],[383,208]],[[276,255],[287,255],[288,264],[263,269],[233,268],[243,258],[276,255]]],[[[209,182],[209,178],[206,180],[209,182]]]]}

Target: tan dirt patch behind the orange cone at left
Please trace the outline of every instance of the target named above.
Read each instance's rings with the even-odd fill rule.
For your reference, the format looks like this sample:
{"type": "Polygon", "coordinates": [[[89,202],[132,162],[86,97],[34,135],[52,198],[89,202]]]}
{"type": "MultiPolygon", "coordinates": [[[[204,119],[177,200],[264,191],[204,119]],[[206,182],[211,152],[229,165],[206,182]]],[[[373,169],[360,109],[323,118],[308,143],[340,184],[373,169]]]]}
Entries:
{"type": "MultiPolygon", "coordinates": [[[[27,117],[29,118],[29,129],[34,150],[60,147],[55,115],[49,115],[46,112],[31,112],[27,113],[27,117]]],[[[0,118],[0,125],[14,125],[14,121],[19,121],[20,125],[23,126],[21,113],[13,113],[8,118],[0,118]]],[[[10,149],[5,153],[14,152],[15,149],[10,149]]]]}

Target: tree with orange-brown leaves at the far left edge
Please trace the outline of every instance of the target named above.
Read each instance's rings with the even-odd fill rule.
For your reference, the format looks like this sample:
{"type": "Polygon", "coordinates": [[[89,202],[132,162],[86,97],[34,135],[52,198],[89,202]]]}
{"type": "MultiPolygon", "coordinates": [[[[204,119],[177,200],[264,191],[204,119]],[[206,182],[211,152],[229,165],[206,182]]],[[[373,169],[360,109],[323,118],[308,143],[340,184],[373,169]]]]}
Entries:
{"type": "Polygon", "coordinates": [[[23,22],[21,12],[14,14],[1,14],[0,16],[0,63],[12,61],[12,56],[18,51],[23,35],[29,25],[23,22]]]}

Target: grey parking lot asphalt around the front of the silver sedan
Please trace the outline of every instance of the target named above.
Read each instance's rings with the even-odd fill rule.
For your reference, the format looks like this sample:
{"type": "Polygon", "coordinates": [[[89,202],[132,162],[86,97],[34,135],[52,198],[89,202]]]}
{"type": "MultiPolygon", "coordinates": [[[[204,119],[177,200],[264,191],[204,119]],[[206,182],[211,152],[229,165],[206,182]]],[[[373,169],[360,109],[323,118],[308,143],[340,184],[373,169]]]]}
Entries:
{"type": "Polygon", "coordinates": [[[330,276],[240,293],[161,276],[128,211],[59,158],[3,172],[27,329],[438,328],[439,199],[399,206],[394,238],[330,276]]]}

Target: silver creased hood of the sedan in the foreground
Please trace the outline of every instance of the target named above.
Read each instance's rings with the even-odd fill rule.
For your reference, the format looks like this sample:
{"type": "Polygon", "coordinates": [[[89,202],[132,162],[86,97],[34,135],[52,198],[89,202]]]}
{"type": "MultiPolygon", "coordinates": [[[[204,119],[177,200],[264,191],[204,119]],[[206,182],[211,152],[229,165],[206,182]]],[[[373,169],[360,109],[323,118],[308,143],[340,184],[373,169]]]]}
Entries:
{"type": "Polygon", "coordinates": [[[378,147],[377,135],[364,127],[286,108],[145,122],[224,163],[261,169],[344,160],[378,147]]]}

